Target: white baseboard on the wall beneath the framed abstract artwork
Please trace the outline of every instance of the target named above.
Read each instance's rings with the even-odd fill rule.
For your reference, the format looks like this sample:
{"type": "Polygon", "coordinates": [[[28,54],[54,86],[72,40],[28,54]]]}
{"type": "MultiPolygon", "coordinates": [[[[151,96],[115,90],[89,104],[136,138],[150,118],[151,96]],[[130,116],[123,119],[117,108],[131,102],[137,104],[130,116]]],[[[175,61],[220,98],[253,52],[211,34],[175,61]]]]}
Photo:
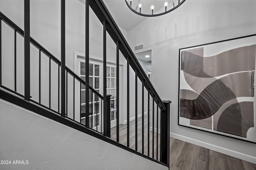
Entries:
{"type": "Polygon", "coordinates": [[[230,155],[230,156],[233,156],[235,158],[251,162],[253,164],[256,164],[256,157],[248,155],[248,154],[244,154],[244,153],[237,152],[237,151],[234,151],[234,150],[230,150],[230,149],[226,149],[226,148],[219,147],[219,146],[216,146],[216,145],[212,145],[212,144],[209,144],[209,143],[205,143],[205,142],[202,142],[202,141],[198,141],[196,139],[192,139],[192,138],[185,137],[185,136],[182,136],[182,135],[178,135],[178,134],[175,134],[175,133],[170,133],[170,137],[175,138],[175,139],[179,139],[181,141],[185,141],[185,142],[188,142],[188,143],[192,143],[192,144],[198,145],[200,147],[211,149],[211,150],[214,150],[216,152],[220,152],[220,153],[223,153],[223,154],[226,154],[226,155],[230,155]]]}

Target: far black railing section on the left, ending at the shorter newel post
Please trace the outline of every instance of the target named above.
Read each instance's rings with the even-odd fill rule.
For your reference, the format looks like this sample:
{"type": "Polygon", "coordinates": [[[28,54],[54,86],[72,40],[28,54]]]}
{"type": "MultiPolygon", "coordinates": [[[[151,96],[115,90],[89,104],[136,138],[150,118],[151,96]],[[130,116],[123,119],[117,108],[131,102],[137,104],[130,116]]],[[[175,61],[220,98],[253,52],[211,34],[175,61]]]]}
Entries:
{"type": "MultiPolygon", "coordinates": [[[[44,47],[42,47],[38,42],[36,42],[32,37],[30,37],[30,44],[33,45],[34,47],[36,47],[36,49],[38,50],[38,72],[39,72],[39,75],[38,75],[38,100],[34,99],[33,98],[33,95],[31,96],[30,94],[30,90],[28,92],[24,92],[24,94],[21,94],[21,92],[17,92],[17,76],[16,76],[16,73],[17,73],[17,55],[16,55],[16,49],[17,49],[17,34],[19,34],[20,36],[24,37],[24,31],[18,27],[15,23],[13,23],[10,19],[8,19],[4,14],[2,14],[0,12],[0,38],[2,37],[2,21],[4,23],[6,23],[9,27],[11,27],[13,30],[14,30],[14,89],[11,89],[10,87],[8,87],[7,85],[4,85],[4,82],[2,82],[2,64],[1,64],[1,67],[0,67],[0,87],[4,88],[5,90],[8,90],[9,92],[12,92],[22,98],[24,98],[25,100],[28,100],[30,102],[33,102],[34,104],[37,104],[41,107],[44,107],[46,109],[49,109],[50,111],[53,111],[54,113],[57,113],[59,115],[62,115],[62,112],[61,112],[61,109],[60,107],[62,105],[60,105],[60,89],[61,89],[61,73],[60,73],[60,69],[61,69],[61,62],[56,58],[54,57],[49,51],[47,51],[44,47]],[[41,84],[42,84],[42,58],[44,55],[44,58],[45,57],[48,57],[48,68],[49,68],[49,74],[48,74],[48,88],[49,88],[49,92],[48,92],[48,104],[44,103],[42,104],[42,95],[41,95],[41,92],[42,92],[42,87],[41,87],[41,84]],[[52,101],[51,101],[51,97],[52,97],[52,93],[51,93],[51,89],[53,88],[52,86],[53,83],[51,83],[51,80],[52,80],[52,76],[54,76],[54,73],[51,71],[51,68],[54,67],[54,65],[56,67],[58,67],[58,84],[56,84],[56,86],[58,86],[58,102],[57,102],[57,107],[56,109],[52,109],[52,101]],[[27,93],[27,94],[26,94],[27,93]],[[25,98],[26,95],[29,94],[29,98],[25,98]]],[[[4,33],[4,32],[3,32],[4,33]]],[[[2,45],[0,44],[0,49],[2,45]]],[[[30,52],[29,52],[30,53],[30,52]]],[[[27,55],[27,54],[25,54],[27,55]]],[[[26,60],[26,59],[25,59],[26,60]]],[[[0,50],[0,61],[2,62],[2,53],[1,53],[1,50],[0,50]]],[[[30,60],[28,60],[30,61],[30,60]]],[[[25,62],[26,63],[26,62],[25,62]]],[[[25,68],[26,68],[26,64],[25,64],[25,68]]],[[[30,66],[28,66],[30,68],[30,66]]],[[[77,123],[80,123],[84,126],[86,126],[86,117],[88,117],[88,128],[90,129],[93,129],[93,130],[96,130],[100,133],[104,133],[104,129],[102,128],[103,125],[104,125],[104,121],[102,121],[103,119],[103,116],[104,116],[104,113],[102,112],[102,107],[103,107],[103,96],[101,94],[99,94],[96,90],[94,90],[91,86],[89,86],[89,94],[91,97],[89,97],[89,111],[87,112],[88,114],[86,114],[85,112],[85,109],[84,106],[85,106],[85,101],[83,101],[83,98],[82,98],[82,95],[81,93],[85,91],[85,81],[80,78],[77,74],[75,74],[72,70],[70,70],[68,67],[64,66],[65,67],[65,72],[64,72],[64,85],[66,86],[65,89],[64,89],[64,92],[66,94],[66,97],[64,97],[64,101],[65,101],[65,105],[66,107],[64,107],[64,111],[65,111],[65,114],[64,114],[64,117],[68,118],[68,119],[71,119],[72,121],[76,121],[77,123]],[[71,77],[70,77],[71,76],[71,77]],[[72,84],[72,87],[73,87],[73,98],[72,98],[72,101],[69,101],[68,100],[68,89],[69,86],[68,85],[71,85],[72,84]],[[76,86],[76,84],[79,84],[78,86],[76,86]],[[76,93],[76,89],[80,89],[78,93],[76,93]],[[76,101],[76,97],[79,96],[79,99],[78,101],[76,101]],[[73,106],[72,106],[72,103],[73,102],[73,106]],[[79,103],[81,106],[80,106],[80,116],[76,117],[75,116],[75,105],[79,103]],[[72,106],[73,107],[73,113],[72,112],[68,112],[68,106],[72,106]],[[93,107],[96,107],[96,108],[93,108],[93,107]],[[96,125],[95,125],[96,124],[96,125]]],[[[26,69],[24,70],[25,72],[25,75],[27,74],[30,74],[30,69],[26,69]]],[[[27,76],[24,76],[24,82],[28,81],[30,82],[30,79],[28,80],[28,77],[27,76]]],[[[45,79],[45,78],[44,78],[45,79]]],[[[108,104],[110,105],[110,101],[108,101],[108,104]]],[[[110,113],[108,113],[110,114],[110,113]]]]}

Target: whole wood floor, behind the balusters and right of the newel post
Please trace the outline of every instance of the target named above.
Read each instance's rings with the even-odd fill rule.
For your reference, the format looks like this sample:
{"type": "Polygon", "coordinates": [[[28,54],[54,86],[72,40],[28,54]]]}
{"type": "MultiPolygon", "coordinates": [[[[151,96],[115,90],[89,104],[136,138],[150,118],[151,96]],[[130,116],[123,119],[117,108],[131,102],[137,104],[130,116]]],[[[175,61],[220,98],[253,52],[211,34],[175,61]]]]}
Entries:
{"type": "MultiPolygon", "coordinates": [[[[148,125],[144,117],[144,154],[148,155],[148,125]]],[[[127,145],[127,125],[119,126],[120,143],[127,145]]],[[[135,121],[130,121],[130,148],[135,150],[135,121]]],[[[156,159],[154,133],[154,158],[156,159]]],[[[116,127],[111,129],[111,139],[116,140],[116,127]]],[[[150,131],[150,157],[152,157],[152,131],[150,131]]],[[[142,118],[138,119],[138,152],[142,153],[142,118]]],[[[158,134],[158,160],[160,134],[158,134]]],[[[256,164],[234,158],[191,143],[170,138],[170,170],[256,170],[256,164]]]]}

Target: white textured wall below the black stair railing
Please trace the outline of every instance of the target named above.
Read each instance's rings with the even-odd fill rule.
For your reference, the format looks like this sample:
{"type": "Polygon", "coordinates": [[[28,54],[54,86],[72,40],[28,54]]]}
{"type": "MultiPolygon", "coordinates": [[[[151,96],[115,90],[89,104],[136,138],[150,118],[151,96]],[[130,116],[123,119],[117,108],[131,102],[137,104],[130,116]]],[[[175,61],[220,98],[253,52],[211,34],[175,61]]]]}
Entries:
{"type": "Polygon", "coordinates": [[[0,100],[0,169],[168,170],[31,111],[0,100]]]}

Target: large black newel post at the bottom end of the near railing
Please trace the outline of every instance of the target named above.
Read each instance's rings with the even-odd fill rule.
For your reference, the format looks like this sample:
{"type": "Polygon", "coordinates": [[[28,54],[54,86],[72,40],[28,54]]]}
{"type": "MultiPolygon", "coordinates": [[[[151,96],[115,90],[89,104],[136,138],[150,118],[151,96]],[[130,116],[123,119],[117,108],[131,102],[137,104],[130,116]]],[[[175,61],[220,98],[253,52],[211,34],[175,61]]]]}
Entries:
{"type": "Polygon", "coordinates": [[[169,167],[170,159],[170,101],[163,100],[166,110],[161,109],[160,162],[169,167]]]}

